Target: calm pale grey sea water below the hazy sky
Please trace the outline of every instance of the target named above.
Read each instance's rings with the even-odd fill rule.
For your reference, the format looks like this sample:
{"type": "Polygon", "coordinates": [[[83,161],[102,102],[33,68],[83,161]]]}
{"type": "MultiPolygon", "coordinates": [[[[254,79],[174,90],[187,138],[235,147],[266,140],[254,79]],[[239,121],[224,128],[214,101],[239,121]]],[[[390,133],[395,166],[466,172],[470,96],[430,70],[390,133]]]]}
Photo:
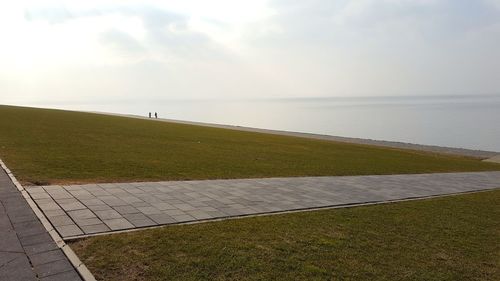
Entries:
{"type": "Polygon", "coordinates": [[[152,101],[53,108],[500,151],[500,95],[152,101]]]}

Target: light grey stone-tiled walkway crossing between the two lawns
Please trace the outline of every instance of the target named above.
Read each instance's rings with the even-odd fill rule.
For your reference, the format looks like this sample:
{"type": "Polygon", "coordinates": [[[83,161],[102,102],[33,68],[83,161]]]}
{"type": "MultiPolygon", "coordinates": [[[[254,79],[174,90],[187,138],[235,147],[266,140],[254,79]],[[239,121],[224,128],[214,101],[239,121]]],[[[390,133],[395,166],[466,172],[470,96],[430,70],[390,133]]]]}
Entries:
{"type": "Polygon", "coordinates": [[[88,184],[26,188],[63,238],[500,187],[500,172],[88,184]]]}

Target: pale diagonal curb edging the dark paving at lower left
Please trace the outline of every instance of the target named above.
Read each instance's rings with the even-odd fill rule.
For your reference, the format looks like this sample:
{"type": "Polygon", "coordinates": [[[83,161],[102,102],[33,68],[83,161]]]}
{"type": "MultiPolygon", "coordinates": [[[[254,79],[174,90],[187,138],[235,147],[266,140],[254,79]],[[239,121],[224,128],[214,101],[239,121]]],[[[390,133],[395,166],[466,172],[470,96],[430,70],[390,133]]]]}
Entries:
{"type": "Polygon", "coordinates": [[[57,247],[61,249],[68,258],[69,262],[73,265],[73,267],[77,270],[78,274],[80,274],[80,277],[84,281],[96,281],[94,275],[90,270],[85,266],[85,264],[78,258],[78,256],[75,254],[75,252],[69,247],[66,242],[61,238],[59,233],[54,229],[52,224],[49,222],[49,220],[45,217],[45,215],[42,213],[42,211],[38,208],[36,205],[35,201],[31,198],[29,193],[24,189],[24,187],[17,181],[16,177],[14,174],[7,168],[5,163],[0,159],[0,166],[2,169],[7,173],[11,181],[14,183],[16,188],[21,192],[21,195],[24,197],[26,202],[28,202],[28,205],[30,205],[31,210],[35,213],[35,215],[38,217],[40,222],[43,224],[49,235],[52,237],[54,242],[56,243],[57,247]]]}

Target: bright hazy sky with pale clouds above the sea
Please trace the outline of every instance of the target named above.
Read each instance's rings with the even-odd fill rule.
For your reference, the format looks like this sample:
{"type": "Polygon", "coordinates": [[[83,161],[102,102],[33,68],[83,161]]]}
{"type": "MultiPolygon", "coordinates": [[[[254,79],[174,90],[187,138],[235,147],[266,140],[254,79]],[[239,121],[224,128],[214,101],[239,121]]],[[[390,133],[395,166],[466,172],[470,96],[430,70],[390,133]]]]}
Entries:
{"type": "Polygon", "coordinates": [[[500,91],[500,0],[16,0],[0,36],[0,103],[500,91]]]}

